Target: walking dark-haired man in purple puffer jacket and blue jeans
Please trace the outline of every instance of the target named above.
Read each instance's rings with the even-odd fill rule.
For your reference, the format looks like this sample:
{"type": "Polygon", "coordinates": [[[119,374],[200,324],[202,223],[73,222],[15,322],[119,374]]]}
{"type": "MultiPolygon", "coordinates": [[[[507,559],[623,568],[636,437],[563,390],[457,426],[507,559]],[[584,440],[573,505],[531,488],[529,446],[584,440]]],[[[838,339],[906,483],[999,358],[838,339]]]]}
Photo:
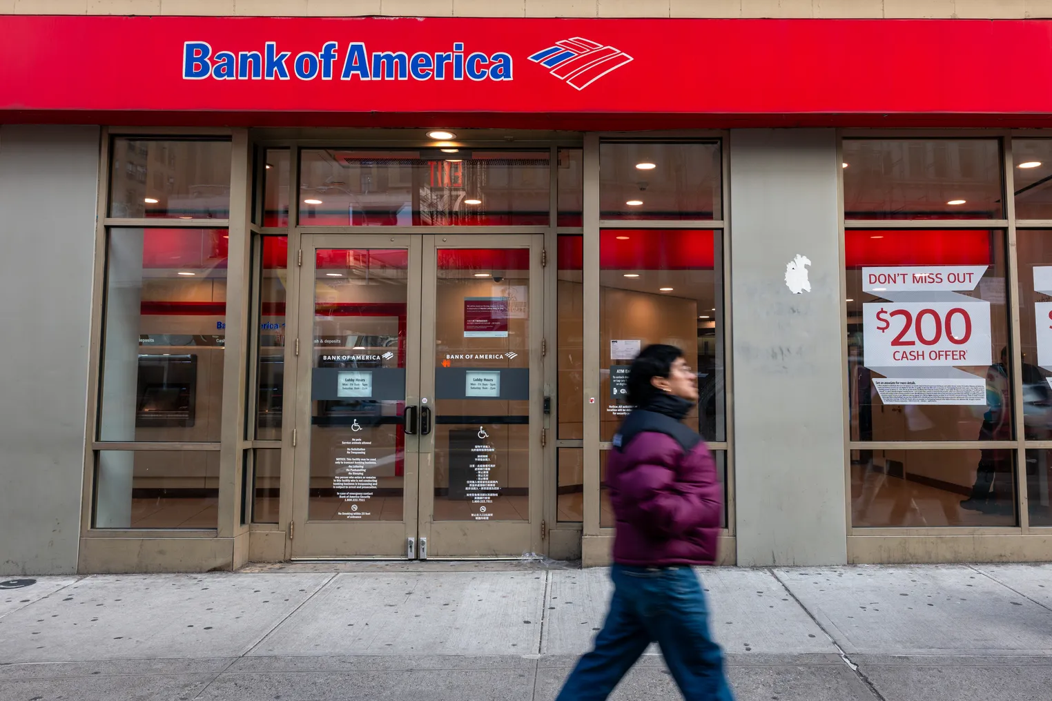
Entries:
{"type": "Polygon", "coordinates": [[[628,372],[636,408],[613,438],[613,599],[595,646],[557,701],[602,701],[652,641],[686,701],[733,701],[694,564],[711,564],[722,525],[715,460],[682,419],[697,378],[674,346],[648,346],[628,372]]]}

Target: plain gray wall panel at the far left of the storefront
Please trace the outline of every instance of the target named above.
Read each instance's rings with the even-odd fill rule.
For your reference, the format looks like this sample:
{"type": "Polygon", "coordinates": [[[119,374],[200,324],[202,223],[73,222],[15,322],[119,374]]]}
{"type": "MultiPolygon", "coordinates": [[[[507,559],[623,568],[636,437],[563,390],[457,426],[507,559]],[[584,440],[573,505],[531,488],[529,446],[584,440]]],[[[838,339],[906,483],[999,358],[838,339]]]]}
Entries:
{"type": "Polygon", "coordinates": [[[0,574],[77,569],[98,179],[98,127],[0,127],[0,574]]]}

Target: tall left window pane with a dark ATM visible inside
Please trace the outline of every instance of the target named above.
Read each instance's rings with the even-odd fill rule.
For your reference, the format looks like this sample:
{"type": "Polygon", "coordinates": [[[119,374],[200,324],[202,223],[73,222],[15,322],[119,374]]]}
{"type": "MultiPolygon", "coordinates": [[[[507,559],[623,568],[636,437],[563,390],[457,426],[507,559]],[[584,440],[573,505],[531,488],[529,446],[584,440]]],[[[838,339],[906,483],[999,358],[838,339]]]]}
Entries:
{"type": "Polygon", "coordinates": [[[109,231],[99,439],[218,441],[227,234],[109,231]]]}

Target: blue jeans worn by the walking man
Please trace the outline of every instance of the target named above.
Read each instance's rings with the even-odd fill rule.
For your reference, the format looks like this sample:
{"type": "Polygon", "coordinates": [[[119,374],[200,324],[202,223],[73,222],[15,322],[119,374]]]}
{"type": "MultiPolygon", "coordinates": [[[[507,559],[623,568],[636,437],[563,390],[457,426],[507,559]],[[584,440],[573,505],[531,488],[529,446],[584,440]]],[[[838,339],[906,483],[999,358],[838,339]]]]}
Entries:
{"type": "Polygon", "coordinates": [[[595,647],[578,662],[557,701],[606,699],[654,640],[686,701],[733,701],[694,571],[615,564],[610,576],[613,599],[595,647]]]}

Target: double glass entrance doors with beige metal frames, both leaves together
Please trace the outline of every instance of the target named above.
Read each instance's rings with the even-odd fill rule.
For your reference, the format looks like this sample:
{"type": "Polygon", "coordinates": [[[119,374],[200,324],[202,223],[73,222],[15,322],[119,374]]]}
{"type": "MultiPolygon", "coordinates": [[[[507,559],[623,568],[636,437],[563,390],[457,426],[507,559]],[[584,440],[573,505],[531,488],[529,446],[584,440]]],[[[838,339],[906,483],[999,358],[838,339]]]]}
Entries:
{"type": "Polygon", "coordinates": [[[542,244],[303,236],[294,557],[540,550],[542,244]]]}

